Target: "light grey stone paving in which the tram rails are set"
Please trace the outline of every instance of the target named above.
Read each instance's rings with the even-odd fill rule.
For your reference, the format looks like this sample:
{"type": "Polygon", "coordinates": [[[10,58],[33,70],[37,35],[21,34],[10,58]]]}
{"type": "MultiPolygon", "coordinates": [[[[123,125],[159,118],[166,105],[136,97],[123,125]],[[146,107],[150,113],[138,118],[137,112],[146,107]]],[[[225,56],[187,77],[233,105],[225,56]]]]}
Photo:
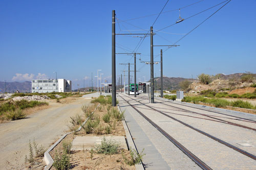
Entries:
{"type": "MultiPolygon", "coordinates": [[[[202,106],[180,102],[169,102],[162,98],[155,98],[155,102],[159,103],[149,104],[148,99],[145,99],[145,96],[146,95],[144,94],[140,94],[137,96],[136,100],[173,116],[201,131],[222,139],[250,154],[256,155],[255,131],[223,123],[224,121],[229,121],[246,127],[256,128],[255,123],[244,122],[242,121],[244,119],[232,117],[239,116],[250,120],[256,120],[256,116],[224,109],[212,109],[210,107],[205,107],[203,110],[199,110],[197,108],[202,108],[202,106]],[[160,102],[164,102],[164,104],[169,106],[163,105],[160,102]],[[196,108],[190,108],[186,105],[196,108]],[[209,112],[207,110],[217,111],[226,115],[209,112]],[[202,114],[211,117],[206,117],[202,114]],[[216,122],[216,118],[222,119],[223,121],[216,122]]],[[[130,97],[135,99],[134,96],[130,97]]],[[[136,106],[138,110],[148,118],[152,119],[159,127],[178,140],[184,147],[199,157],[212,169],[255,169],[256,160],[228,148],[225,145],[180,124],[174,119],[170,119],[163,114],[148,109],[146,106],[129,99],[127,95],[124,99],[130,100],[132,105],[136,106]]],[[[136,147],[139,151],[143,148],[145,149],[144,153],[146,155],[144,156],[143,162],[147,165],[148,169],[199,168],[193,161],[185,156],[183,152],[177,149],[172,142],[163,137],[163,135],[137,113],[137,111],[121,98],[118,98],[118,100],[121,110],[125,110],[125,121],[134,137],[136,147]]]]}

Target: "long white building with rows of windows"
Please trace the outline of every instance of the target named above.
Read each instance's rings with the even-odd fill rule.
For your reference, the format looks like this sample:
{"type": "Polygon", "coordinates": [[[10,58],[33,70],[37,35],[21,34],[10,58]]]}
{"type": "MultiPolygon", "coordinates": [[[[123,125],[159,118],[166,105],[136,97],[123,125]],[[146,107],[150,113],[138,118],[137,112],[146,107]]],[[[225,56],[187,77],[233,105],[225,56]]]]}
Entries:
{"type": "Polygon", "coordinates": [[[70,92],[72,82],[66,79],[32,80],[32,93],[70,92]]]}

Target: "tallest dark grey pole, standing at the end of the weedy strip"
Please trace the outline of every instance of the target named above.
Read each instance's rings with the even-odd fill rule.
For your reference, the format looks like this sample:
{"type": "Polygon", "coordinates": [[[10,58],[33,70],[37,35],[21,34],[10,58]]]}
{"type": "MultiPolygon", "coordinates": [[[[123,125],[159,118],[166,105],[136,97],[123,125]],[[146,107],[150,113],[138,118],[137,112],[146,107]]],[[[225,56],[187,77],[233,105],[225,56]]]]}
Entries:
{"type": "Polygon", "coordinates": [[[116,19],[112,11],[112,106],[116,106],[116,19]]]}

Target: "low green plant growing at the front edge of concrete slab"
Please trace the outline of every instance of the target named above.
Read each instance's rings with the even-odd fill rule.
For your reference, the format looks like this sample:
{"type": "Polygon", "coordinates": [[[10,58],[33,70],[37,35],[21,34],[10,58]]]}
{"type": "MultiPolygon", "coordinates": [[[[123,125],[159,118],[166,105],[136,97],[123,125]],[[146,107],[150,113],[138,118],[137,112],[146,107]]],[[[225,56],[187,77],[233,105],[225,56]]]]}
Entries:
{"type": "Polygon", "coordinates": [[[98,154],[113,155],[118,153],[119,143],[115,140],[107,140],[105,137],[97,144],[95,150],[98,154]]]}

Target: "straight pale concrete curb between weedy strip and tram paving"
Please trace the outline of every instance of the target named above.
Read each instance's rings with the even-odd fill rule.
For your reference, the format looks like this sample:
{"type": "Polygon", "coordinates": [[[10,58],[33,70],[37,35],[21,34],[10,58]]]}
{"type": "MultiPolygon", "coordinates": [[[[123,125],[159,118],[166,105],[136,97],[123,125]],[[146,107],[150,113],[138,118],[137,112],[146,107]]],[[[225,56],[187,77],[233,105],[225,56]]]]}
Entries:
{"type": "MultiPolygon", "coordinates": [[[[117,105],[117,107],[118,107],[119,111],[122,112],[120,107],[119,107],[119,105],[117,105]]],[[[137,150],[137,148],[135,146],[135,143],[133,141],[131,132],[130,132],[129,128],[127,127],[125,119],[122,120],[122,124],[123,124],[123,129],[124,129],[124,132],[125,132],[126,141],[127,141],[127,145],[128,145],[129,150],[133,149],[133,150],[135,150],[138,153],[138,150],[137,150]]],[[[135,164],[135,168],[138,169],[138,170],[145,169],[144,166],[143,166],[142,161],[141,161],[140,164],[135,164]]]]}

